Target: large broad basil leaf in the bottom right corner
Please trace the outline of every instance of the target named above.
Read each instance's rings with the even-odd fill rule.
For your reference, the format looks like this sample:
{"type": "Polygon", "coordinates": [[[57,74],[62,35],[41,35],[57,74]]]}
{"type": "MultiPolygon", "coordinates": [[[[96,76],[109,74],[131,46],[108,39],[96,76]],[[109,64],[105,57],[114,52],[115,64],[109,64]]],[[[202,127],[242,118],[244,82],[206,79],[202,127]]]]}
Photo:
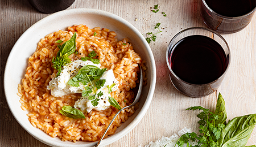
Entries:
{"type": "Polygon", "coordinates": [[[218,144],[221,147],[230,146],[242,147],[247,144],[256,124],[256,114],[236,117],[222,129],[218,144]]]}

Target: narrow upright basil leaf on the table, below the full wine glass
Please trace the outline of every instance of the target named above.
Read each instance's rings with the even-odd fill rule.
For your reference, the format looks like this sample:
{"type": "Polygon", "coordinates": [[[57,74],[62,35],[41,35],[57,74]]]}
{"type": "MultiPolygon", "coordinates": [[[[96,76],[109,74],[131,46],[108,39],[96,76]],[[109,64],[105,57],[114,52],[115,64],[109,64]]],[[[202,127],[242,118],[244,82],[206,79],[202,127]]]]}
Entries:
{"type": "Polygon", "coordinates": [[[218,100],[215,110],[215,115],[218,115],[218,120],[216,120],[215,124],[226,124],[226,107],[225,107],[225,101],[223,97],[221,96],[221,93],[218,94],[218,100]]]}

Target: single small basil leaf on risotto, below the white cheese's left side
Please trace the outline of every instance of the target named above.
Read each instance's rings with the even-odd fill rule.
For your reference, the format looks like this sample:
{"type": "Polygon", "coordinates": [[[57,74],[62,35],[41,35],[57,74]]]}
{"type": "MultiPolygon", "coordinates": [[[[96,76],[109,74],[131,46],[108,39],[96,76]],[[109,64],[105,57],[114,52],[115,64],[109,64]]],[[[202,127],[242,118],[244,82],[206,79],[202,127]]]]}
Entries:
{"type": "Polygon", "coordinates": [[[77,110],[71,106],[63,106],[60,113],[73,119],[85,118],[84,114],[80,110],[77,110]]]}

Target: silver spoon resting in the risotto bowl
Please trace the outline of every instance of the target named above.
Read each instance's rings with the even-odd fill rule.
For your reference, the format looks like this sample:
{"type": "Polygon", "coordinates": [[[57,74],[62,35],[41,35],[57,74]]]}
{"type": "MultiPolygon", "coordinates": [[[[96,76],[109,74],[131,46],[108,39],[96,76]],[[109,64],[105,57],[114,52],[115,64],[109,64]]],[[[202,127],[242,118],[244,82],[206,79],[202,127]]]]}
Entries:
{"type": "Polygon", "coordinates": [[[108,132],[108,130],[109,130],[111,124],[114,122],[114,120],[115,120],[115,118],[117,117],[117,115],[118,115],[119,113],[121,113],[121,111],[122,111],[123,109],[126,109],[126,108],[128,108],[128,107],[134,106],[134,105],[139,101],[139,98],[141,97],[142,84],[143,84],[143,77],[142,77],[141,65],[139,65],[139,70],[141,71],[141,77],[140,77],[141,79],[139,79],[139,89],[138,89],[137,96],[135,97],[135,99],[134,99],[133,103],[131,103],[131,105],[126,106],[126,107],[123,107],[121,110],[119,110],[119,111],[117,112],[117,114],[115,114],[114,118],[113,118],[113,119],[111,120],[111,122],[109,123],[108,128],[106,128],[105,132],[104,132],[103,135],[101,136],[101,139],[98,141],[98,143],[97,143],[97,145],[96,145],[95,147],[97,147],[97,146],[101,143],[101,140],[104,138],[104,136],[105,136],[106,133],[108,132]]]}

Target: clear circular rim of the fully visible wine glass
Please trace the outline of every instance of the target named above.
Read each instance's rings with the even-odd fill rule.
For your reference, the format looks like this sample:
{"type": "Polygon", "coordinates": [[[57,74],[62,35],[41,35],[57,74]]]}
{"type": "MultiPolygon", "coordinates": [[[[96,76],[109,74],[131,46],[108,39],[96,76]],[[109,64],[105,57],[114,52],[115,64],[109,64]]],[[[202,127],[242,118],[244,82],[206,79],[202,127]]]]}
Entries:
{"type": "MultiPolygon", "coordinates": [[[[190,35],[190,36],[191,36],[191,35],[190,35]]],[[[191,27],[191,28],[184,29],[183,31],[180,31],[179,33],[177,33],[177,34],[171,39],[171,41],[170,41],[169,44],[168,44],[167,50],[166,50],[166,62],[167,62],[167,66],[168,66],[169,71],[172,73],[172,75],[174,75],[174,76],[176,77],[176,79],[182,81],[182,82],[185,83],[185,84],[193,85],[193,86],[209,85],[209,84],[215,83],[215,82],[216,82],[217,80],[219,80],[219,79],[222,79],[222,77],[225,76],[226,72],[228,72],[228,69],[229,69],[229,67],[230,67],[230,61],[231,61],[230,48],[229,48],[229,45],[228,45],[228,43],[226,42],[225,38],[222,37],[220,33],[216,32],[216,31],[213,31],[212,29],[203,28],[203,27],[191,27]],[[222,74],[220,77],[218,77],[218,79],[216,79],[216,80],[214,80],[214,81],[212,81],[212,82],[210,82],[210,83],[206,83],[206,84],[192,84],[192,83],[188,83],[188,82],[186,82],[186,81],[180,79],[180,78],[174,73],[174,71],[172,71],[172,69],[171,69],[170,62],[169,62],[169,58],[170,58],[170,57],[169,57],[169,53],[170,53],[169,50],[170,50],[170,47],[171,47],[171,42],[174,41],[174,39],[175,39],[177,36],[179,36],[181,33],[186,32],[186,31],[189,31],[189,30],[191,30],[191,29],[203,29],[203,30],[205,30],[205,31],[209,31],[209,32],[212,32],[213,34],[216,34],[218,37],[220,37],[220,38],[225,42],[225,45],[226,45],[226,47],[227,47],[227,49],[228,49],[229,61],[228,61],[228,66],[226,67],[226,70],[223,72],[223,74],[222,74]]]]}

